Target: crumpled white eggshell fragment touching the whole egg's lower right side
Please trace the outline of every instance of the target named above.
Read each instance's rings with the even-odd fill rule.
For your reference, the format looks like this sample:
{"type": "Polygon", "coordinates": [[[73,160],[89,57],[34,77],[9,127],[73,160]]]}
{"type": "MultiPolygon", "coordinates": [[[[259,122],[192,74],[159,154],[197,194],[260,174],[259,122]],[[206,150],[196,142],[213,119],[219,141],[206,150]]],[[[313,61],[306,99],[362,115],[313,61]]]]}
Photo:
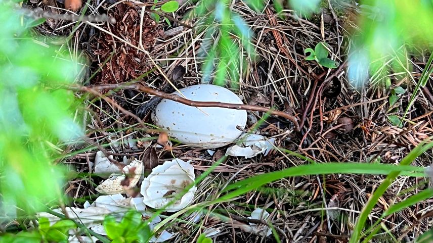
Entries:
{"type": "Polygon", "coordinates": [[[245,133],[239,137],[238,144],[229,147],[226,156],[241,156],[247,158],[254,157],[258,154],[265,156],[274,148],[275,138],[267,140],[264,136],[259,134],[245,133]]]}

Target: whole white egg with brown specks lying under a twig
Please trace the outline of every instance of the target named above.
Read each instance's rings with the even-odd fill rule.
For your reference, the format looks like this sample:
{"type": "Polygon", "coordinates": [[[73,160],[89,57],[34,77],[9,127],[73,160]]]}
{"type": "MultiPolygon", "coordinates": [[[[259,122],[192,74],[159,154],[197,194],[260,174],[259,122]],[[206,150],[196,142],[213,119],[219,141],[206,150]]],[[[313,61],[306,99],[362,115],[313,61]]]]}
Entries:
{"type": "MultiPolygon", "coordinates": [[[[186,99],[203,102],[243,104],[227,88],[198,84],[180,89],[186,99]]],[[[174,92],[173,94],[178,94],[174,92]]],[[[152,113],[152,120],[168,134],[196,148],[213,149],[234,141],[245,128],[245,110],[220,107],[192,107],[163,99],[152,113]]]]}

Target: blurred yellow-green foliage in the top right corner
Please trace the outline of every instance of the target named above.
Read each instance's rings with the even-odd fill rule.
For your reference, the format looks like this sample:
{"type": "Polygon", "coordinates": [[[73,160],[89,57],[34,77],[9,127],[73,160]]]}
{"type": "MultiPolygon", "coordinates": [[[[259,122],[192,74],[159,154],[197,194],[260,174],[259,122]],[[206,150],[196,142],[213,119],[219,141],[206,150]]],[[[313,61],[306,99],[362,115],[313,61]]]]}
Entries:
{"type": "Polygon", "coordinates": [[[392,72],[410,79],[410,55],[426,55],[433,43],[433,1],[360,1],[359,28],[353,31],[349,57],[349,79],[355,86],[382,83],[392,72]],[[421,50],[421,52],[419,52],[421,50]]]}

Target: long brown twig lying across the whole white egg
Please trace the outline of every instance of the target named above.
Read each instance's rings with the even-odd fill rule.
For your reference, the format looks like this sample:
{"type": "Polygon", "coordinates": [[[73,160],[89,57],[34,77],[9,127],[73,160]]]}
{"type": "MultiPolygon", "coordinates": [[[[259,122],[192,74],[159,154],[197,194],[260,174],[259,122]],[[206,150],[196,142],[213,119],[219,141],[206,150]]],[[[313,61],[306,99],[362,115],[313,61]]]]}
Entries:
{"type": "MultiPolygon", "coordinates": [[[[231,103],[222,103],[222,102],[191,101],[191,100],[183,98],[182,96],[179,96],[179,95],[176,95],[176,94],[165,93],[165,92],[162,92],[162,91],[159,91],[159,90],[156,90],[156,89],[144,86],[144,85],[142,85],[140,83],[132,83],[132,84],[124,84],[124,83],[104,84],[104,85],[96,85],[96,86],[93,86],[92,88],[81,86],[81,87],[79,87],[79,89],[82,90],[82,91],[86,91],[86,92],[92,92],[95,95],[98,95],[98,94],[100,95],[100,93],[98,91],[105,90],[105,89],[136,89],[136,90],[139,90],[139,91],[151,94],[151,95],[158,96],[158,97],[163,98],[163,99],[179,102],[179,103],[182,103],[182,104],[187,105],[187,106],[194,106],[194,107],[221,107],[221,108],[234,109],[234,110],[248,110],[248,111],[267,112],[267,113],[269,113],[271,115],[284,117],[284,118],[290,120],[295,125],[295,129],[297,131],[299,130],[299,124],[297,122],[297,119],[294,116],[291,116],[291,115],[289,115],[289,114],[287,114],[285,112],[276,111],[276,110],[269,109],[269,108],[266,108],[266,107],[254,106],[254,105],[231,104],[231,103]]],[[[105,98],[103,98],[103,99],[105,100],[105,98]]],[[[117,107],[117,108],[119,108],[119,107],[117,107]]],[[[134,117],[136,119],[138,118],[134,114],[131,114],[131,112],[125,111],[124,109],[122,110],[122,112],[124,112],[125,114],[130,115],[130,116],[132,116],[132,117],[134,117]]],[[[137,120],[139,120],[139,119],[140,118],[138,118],[137,120]]],[[[141,120],[139,120],[139,121],[141,121],[141,120]]]]}

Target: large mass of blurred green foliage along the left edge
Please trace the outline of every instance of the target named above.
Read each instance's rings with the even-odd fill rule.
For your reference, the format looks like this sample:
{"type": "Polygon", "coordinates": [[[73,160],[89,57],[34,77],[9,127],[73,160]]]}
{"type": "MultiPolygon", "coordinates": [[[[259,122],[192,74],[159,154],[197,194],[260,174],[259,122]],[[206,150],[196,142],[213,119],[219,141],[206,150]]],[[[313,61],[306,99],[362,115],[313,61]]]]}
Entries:
{"type": "Polygon", "coordinates": [[[29,28],[40,21],[18,8],[0,0],[0,223],[59,202],[65,170],[53,164],[56,144],[82,135],[74,93],[60,88],[81,67],[32,38],[29,28]]]}

